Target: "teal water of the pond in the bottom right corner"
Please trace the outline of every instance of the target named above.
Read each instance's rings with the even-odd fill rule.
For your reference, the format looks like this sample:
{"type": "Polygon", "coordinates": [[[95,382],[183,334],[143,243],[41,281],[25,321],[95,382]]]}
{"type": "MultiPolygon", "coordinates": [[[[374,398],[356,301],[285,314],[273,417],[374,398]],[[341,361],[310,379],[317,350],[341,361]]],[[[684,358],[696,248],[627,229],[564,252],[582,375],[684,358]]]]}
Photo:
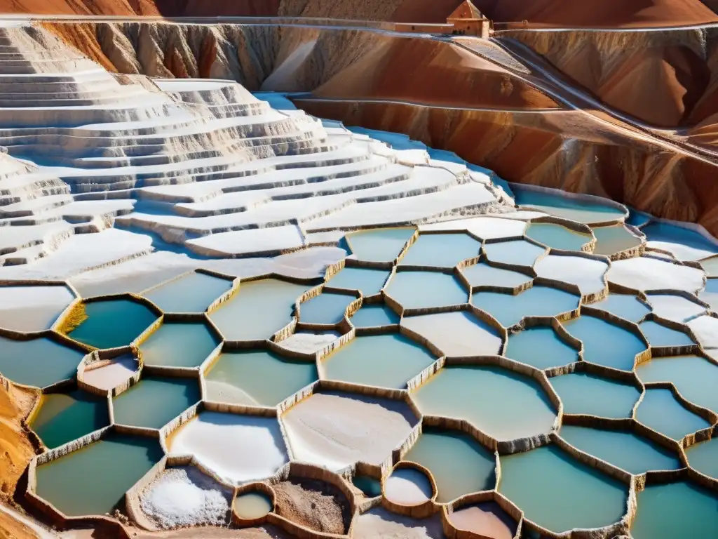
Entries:
{"type": "Polygon", "coordinates": [[[697,485],[656,484],[638,492],[634,539],[709,538],[718,536],[718,497],[697,485]]]}

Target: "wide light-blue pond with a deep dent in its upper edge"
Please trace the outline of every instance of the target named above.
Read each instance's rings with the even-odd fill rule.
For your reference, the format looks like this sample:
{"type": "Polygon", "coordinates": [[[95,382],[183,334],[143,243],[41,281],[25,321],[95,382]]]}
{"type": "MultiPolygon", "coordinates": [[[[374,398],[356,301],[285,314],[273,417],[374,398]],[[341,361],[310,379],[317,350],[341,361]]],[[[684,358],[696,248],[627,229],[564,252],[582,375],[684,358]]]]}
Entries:
{"type": "Polygon", "coordinates": [[[500,292],[475,292],[471,303],[493,315],[502,326],[510,328],[524,316],[554,316],[579,306],[579,296],[558,288],[533,286],[517,295],[500,292]]]}

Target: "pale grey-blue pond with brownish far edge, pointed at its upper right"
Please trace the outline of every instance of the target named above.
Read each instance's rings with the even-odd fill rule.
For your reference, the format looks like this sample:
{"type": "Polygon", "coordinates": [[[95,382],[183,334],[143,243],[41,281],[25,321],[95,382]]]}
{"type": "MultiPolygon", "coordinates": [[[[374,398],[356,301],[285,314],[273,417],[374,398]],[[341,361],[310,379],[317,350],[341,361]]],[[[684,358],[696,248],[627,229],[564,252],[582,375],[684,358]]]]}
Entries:
{"type": "Polygon", "coordinates": [[[210,318],[230,341],[270,338],[292,321],[294,303],[311,287],[278,279],[243,282],[210,318]]]}

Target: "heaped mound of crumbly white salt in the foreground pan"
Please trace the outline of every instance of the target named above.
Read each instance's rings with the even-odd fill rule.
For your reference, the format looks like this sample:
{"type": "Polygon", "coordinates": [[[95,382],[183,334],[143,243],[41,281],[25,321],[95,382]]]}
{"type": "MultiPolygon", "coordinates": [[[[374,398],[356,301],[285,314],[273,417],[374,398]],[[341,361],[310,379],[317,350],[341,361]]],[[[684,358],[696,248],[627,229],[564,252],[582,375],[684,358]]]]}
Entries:
{"type": "Polygon", "coordinates": [[[159,528],[228,524],[232,493],[192,467],[165,470],[140,496],[159,528]]]}

